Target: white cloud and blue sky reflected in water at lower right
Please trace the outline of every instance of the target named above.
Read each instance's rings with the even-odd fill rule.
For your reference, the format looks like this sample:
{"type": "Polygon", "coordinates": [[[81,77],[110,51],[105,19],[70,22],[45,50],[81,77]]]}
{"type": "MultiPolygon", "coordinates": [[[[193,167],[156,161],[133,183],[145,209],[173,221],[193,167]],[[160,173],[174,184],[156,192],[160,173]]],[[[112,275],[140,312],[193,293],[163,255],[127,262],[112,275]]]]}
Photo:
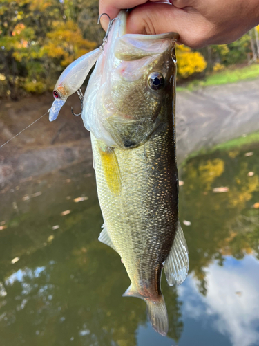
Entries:
{"type": "Polygon", "coordinates": [[[229,337],[233,346],[259,345],[259,262],[226,257],[224,266],[212,264],[207,271],[207,296],[200,295],[195,279],[179,287],[186,318],[213,317],[213,328],[229,337]]]}

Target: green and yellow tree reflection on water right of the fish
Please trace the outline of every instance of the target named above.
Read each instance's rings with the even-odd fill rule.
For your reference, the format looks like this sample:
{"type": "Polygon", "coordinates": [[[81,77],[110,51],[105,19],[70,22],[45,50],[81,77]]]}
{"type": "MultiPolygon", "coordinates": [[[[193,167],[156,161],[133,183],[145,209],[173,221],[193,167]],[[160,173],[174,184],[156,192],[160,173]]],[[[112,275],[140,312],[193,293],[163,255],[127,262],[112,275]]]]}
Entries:
{"type": "Polygon", "coordinates": [[[190,270],[206,294],[206,268],[213,260],[224,264],[224,255],[237,259],[246,253],[258,256],[259,156],[244,152],[215,152],[192,158],[183,169],[180,215],[191,221],[184,229],[189,244],[190,270]],[[249,174],[253,172],[253,175],[249,174]],[[215,193],[213,188],[227,187],[215,193]]]}

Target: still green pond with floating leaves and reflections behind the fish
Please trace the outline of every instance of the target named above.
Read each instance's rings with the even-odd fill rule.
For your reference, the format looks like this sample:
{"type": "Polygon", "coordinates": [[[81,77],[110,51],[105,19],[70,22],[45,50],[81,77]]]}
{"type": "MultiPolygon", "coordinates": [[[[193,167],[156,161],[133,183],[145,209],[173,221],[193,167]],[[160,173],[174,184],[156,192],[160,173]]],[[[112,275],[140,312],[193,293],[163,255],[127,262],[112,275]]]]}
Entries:
{"type": "Polygon", "coordinates": [[[259,145],[200,154],[180,167],[189,276],[162,277],[169,333],[122,298],[119,255],[98,242],[93,169],[81,163],[0,193],[1,346],[259,345],[259,145]]]}

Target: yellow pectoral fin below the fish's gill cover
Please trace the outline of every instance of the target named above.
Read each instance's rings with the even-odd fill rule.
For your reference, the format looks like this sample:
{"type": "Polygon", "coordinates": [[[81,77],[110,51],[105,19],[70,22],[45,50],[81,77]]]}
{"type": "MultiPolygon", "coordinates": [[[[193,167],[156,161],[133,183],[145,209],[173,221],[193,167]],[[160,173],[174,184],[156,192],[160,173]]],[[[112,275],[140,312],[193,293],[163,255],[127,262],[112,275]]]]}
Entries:
{"type": "Polygon", "coordinates": [[[117,196],[122,187],[117,156],[112,147],[106,147],[105,149],[99,147],[99,153],[108,188],[117,196]]]}

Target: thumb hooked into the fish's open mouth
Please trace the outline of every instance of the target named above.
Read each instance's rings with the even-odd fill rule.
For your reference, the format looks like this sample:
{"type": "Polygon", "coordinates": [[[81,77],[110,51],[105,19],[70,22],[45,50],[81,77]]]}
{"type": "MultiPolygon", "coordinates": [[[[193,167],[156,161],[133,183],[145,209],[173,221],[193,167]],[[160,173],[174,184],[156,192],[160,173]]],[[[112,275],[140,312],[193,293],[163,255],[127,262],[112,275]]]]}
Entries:
{"type": "Polygon", "coordinates": [[[207,44],[212,28],[194,8],[182,9],[168,3],[145,3],[128,15],[127,33],[155,35],[175,32],[179,43],[191,48],[207,44]]]}

